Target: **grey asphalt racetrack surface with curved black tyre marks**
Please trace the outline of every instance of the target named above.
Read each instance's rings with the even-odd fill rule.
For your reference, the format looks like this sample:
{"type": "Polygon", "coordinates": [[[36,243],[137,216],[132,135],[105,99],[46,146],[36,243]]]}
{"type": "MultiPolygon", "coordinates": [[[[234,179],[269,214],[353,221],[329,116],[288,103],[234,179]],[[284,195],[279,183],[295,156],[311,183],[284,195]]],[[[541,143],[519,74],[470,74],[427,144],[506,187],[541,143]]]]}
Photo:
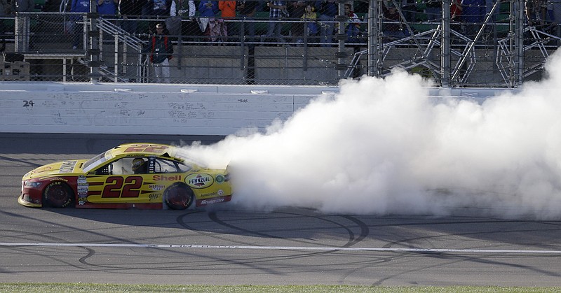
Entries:
{"type": "Polygon", "coordinates": [[[0,282],[561,285],[561,222],[17,203],[21,176],[48,162],[125,142],[219,139],[0,134],[0,282]]]}

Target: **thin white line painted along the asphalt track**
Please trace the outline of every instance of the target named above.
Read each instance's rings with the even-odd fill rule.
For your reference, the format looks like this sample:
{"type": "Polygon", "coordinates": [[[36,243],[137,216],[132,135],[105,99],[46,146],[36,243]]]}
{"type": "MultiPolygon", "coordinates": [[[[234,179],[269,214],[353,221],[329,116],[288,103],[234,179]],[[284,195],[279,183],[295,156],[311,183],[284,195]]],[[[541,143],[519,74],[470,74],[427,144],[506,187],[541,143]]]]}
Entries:
{"type": "Polygon", "coordinates": [[[252,246],[252,245],[174,245],[174,244],[102,244],[102,243],[21,243],[0,242],[0,246],[66,246],[100,248],[191,248],[191,249],[246,249],[246,250],[313,250],[313,251],[374,251],[424,253],[513,253],[561,255],[561,250],[503,250],[503,249],[449,249],[449,248],[330,248],[306,246],[252,246]]]}

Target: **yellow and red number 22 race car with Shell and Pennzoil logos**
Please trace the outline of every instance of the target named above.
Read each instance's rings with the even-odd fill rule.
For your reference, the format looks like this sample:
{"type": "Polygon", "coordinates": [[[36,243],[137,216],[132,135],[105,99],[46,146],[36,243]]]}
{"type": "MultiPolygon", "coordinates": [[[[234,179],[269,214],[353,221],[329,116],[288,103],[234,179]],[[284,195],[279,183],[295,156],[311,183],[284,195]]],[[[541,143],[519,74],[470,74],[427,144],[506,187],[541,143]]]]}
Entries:
{"type": "Polygon", "coordinates": [[[171,145],[127,143],[91,159],[29,171],[18,202],[29,207],[183,210],[224,203],[231,196],[226,169],[208,169],[171,145]]]}

